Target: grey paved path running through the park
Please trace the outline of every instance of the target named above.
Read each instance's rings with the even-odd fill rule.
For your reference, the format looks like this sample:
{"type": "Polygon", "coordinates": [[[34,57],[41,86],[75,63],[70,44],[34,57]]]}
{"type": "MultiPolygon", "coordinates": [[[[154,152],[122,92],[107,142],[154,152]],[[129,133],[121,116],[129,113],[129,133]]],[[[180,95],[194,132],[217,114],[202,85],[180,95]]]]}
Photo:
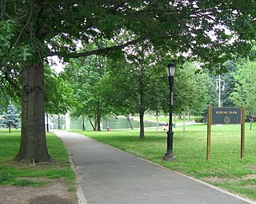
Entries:
{"type": "Polygon", "coordinates": [[[88,204],[256,203],[226,194],[94,139],[55,131],[78,171],[88,204]]]}

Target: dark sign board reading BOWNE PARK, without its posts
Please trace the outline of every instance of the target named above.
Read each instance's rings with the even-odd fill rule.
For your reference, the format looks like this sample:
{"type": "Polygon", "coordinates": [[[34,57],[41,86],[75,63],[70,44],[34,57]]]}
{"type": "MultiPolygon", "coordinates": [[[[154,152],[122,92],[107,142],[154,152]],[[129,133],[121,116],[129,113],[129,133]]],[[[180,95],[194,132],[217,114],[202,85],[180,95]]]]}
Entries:
{"type": "Polygon", "coordinates": [[[242,108],[212,108],[211,124],[242,124],[242,108]]]}

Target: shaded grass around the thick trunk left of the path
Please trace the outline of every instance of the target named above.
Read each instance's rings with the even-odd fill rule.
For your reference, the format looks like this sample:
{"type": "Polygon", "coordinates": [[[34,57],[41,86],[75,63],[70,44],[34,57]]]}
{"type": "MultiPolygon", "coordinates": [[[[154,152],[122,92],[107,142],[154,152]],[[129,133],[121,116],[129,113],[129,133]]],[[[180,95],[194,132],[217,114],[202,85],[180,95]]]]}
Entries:
{"type": "Polygon", "coordinates": [[[62,140],[53,133],[47,133],[48,151],[55,163],[14,162],[18,153],[20,131],[0,129],[0,186],[42,186],[46,181],[33,181],[29,178],[65,179],[70,188],[74,188],[74,171],[70,167],[69,158],[62,140]]]}

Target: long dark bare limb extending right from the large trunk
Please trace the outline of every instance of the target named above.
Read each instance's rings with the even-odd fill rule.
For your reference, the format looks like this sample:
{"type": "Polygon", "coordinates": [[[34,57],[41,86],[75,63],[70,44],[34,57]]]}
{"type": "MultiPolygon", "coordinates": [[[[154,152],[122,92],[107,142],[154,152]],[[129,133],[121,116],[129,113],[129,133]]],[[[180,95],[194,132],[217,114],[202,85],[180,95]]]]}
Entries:
{"type": "Polygon", "coordinates": [[[62,53],[62,52],[54,52],[54,53],[49,53],[46,55],[46,57],[52,57],[52,56],[58,56],[58,57],[70,57],[70,58],[78,58],[78,57],[86,57],[94,54],[102,54],[102,53],[109,53],[110,51],[118,50],[118,49],[123,49],[128,45],[134,45],[138,43],[139,41],[142,41],[145,39],[145,37],[138,37],[137,39],[133,41],[128,41],[125,44],[122,45],[115,45],[112,47],[104,48],[104,49],[94,49],[88,52],[84,53],[62,53]]]}

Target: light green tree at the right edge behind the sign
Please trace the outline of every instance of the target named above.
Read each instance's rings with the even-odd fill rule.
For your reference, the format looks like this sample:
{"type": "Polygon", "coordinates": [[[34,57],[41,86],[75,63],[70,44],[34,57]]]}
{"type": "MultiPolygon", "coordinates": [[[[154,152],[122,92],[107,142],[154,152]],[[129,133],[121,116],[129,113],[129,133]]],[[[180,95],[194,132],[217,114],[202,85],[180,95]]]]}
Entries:
{"type": "Polygon", "coordinates": [[[230,94],[230,99],[237,106],[245,106],[246,114],[250,118],[250,130],[252,128],[252,118],[256,114],[256,62],[245,61],[238,66],[234,73],[236,80],[234,92],[230,94]]]}

